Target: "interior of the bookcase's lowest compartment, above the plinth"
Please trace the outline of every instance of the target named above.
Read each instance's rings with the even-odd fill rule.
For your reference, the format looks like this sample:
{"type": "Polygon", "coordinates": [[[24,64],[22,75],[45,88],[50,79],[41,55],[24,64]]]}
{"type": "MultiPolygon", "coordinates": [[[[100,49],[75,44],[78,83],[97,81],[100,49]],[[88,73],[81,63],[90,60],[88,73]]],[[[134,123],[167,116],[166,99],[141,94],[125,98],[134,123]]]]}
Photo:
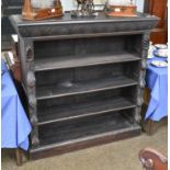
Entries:
{"type": "Polygon", "coordinates": [[[64,145],[76,140],[95,138],[99,134],[104,136],[111,132],[125,131],[134,127],[122,114],[109,114],[102,116],[73,120],[66,123],[54,123],[39,126],[41,145],[64,145]],[[95,136],[97,135],[97,136],[95,136]]]}

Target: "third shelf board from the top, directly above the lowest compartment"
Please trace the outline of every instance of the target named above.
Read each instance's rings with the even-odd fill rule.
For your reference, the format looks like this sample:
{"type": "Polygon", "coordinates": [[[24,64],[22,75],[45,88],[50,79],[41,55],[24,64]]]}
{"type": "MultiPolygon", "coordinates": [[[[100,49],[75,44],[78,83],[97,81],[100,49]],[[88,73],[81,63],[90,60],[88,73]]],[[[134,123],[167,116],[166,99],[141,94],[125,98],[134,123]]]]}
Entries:
{"type": "Polygon", "coordinates": [[[136,105],[129,100],[123,97],[117,97],[115,99],[80,103],[63,107],[42,107],[42,110],[37,111],[37,115],[39,114],[38,125],[101,115],[107,112],[133,109],[135,106],[136,105]]]}

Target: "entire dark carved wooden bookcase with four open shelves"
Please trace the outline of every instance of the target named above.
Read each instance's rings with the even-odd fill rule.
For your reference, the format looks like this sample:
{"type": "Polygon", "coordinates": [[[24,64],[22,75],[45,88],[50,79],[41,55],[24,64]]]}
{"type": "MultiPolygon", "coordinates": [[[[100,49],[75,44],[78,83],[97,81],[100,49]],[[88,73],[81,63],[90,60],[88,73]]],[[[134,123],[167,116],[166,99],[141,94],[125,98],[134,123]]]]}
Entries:
{"type": "Polygon", "coordinates": [[[22,83],[37,159],[140,134],[149,32],[158,19],[26,22],[10,18],[19,34],[22,83]]]}

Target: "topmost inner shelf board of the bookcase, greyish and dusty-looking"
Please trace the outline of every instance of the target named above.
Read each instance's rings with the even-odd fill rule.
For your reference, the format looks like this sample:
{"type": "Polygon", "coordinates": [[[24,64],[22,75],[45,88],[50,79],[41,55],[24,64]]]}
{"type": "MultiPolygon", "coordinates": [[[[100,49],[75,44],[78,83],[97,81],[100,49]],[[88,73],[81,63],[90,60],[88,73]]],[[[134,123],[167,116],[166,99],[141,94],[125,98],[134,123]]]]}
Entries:
{"type": "Polygon", "coordinates": [[[75,67],[87,67],[94,65],[104,65],[113,63],[125,63],[139,60],[140,58],[127,52],[117,54],[94,54],[87,56],[68,56],[68,57],[46,57],[42,59],[35,58],[35,71],[65,69],[75,67]]]}

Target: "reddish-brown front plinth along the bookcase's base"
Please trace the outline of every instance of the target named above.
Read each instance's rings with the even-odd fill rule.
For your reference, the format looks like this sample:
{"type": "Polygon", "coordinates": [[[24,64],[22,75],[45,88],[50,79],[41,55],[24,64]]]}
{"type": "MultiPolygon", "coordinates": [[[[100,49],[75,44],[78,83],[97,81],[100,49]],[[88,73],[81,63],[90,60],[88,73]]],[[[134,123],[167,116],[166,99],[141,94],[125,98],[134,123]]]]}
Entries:
{"type": "Polygon", "coordinates": [[[67,143],[60,144],[52,144],[39,146],[38,148],[31,148],[30,149],[30,157],[31,159],[39,159],[46,158],[49,156],[56,156],[66,154],[69,151],[80,150],[84,148],[89,148],[92,146],[103,145],[107,143],[113,143],[121,139],[127,139],[131,137],[136,137],[140,135],[140,127],[138,125],[126,127],[122,129],[115,129],[109,133],[98,134],[93,136],[82,137],[78,139],[72,139],[67,143]]]}

